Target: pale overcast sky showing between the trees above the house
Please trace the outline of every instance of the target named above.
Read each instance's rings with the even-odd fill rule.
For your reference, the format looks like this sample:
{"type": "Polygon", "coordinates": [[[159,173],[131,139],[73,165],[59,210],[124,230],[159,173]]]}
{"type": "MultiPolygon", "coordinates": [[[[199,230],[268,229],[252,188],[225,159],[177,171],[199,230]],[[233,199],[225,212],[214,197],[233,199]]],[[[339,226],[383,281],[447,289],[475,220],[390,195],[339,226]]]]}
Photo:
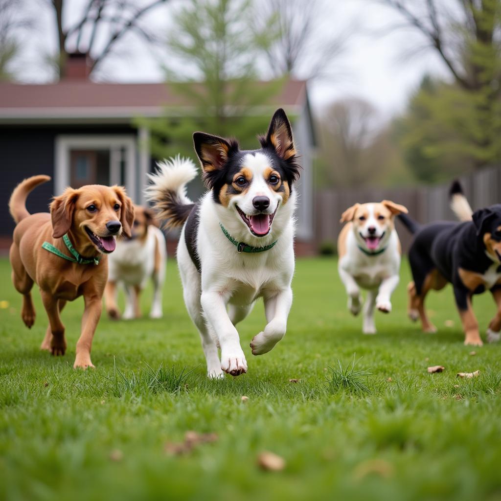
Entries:
{"type": "MultiPolygon", "coordinates": [[[[179,4],[179,0],[176,0],[179,4]]],[[[305,6],[308,5],[308,0],[305,6]]],[[[30,5],[33,0],[26,0],[30,5]]],[[[66,11],[66,22],[78,18],[84,0],[70,0],[71,10],[66,11]]],[[[40,58],[40,44],[46,50],[54,48],[55,33],[53,13],[50,8],[41,9],[36,2],[38,27],[30,44],[28,56],[32,60],[40,58]],[[47,34],[51,36],[48,37],[47,34]]],[[[404,60],[402,53],[420,45],[422,39],[413,32],[397,32],[386,36],[375,32],[398,21],[398,17],[374,0],[326,0],[324,27],[330,30],[350,30],[347,49],[340,64],[340,75],[333,81],[320,81],[310,87],[311,99],[316,110],[342,97],[362,97],[373,103],[382,116],[389,118],[401,111],[409,94],[419,84],[426,72],[447,77],[440,60],[433,51],[425,51],[419,57],[404,60]]],[[[174,4],[175,7],[175,4],[174,4]]],[[[145,18],[149,26],[160,33],[166,32],[171,20],[169,5],[156,9],[145,18]]],[[[320,29],[320,28],[319,28],[320,29]]],[[[323,28],[326,29],[326,28],[323,28]]],[[[319,33],[319,36],[322,36],[319,33]]],[[[164,74],[160,67],[161,53],[151,50],[137,41],[125,40],[120,57],[106,64],[104,78],[123,82],[162,81],[164,74]]],[[[47,73],[34,64],[25,70],[24,77],[31,81],[44,81],[47,73]]]]}

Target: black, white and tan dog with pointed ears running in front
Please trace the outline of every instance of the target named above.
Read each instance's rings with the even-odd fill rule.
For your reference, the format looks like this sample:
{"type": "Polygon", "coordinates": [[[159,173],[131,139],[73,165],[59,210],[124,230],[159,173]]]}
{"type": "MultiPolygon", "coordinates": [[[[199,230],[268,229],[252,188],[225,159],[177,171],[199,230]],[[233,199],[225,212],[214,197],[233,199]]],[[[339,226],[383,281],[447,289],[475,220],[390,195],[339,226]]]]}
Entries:
{"type": "Polygon", "coordinates": [[[264,299],[267,325],[250,343],[254,355],[269,352],[284,337],[292,304],[300,165],[284,110],[275,112],[259,139],[260,149],[240,150],[235,140],[193,134],[208,188],[197,203],[186,196],[186,184],[196,176],[188,159],[159,164],[147,188],[159,218],[182,225],[177,261],[184,301],[211,378],[247,371],[235,325],[258,298],[264,299]]]}

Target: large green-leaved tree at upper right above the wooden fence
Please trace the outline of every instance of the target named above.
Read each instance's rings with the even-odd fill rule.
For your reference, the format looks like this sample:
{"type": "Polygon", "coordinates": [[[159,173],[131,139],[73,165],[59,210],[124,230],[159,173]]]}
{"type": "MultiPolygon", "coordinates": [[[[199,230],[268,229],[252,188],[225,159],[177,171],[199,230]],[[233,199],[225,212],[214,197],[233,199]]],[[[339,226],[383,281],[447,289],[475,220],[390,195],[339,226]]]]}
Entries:
{"type": "Polygon", "coordinates": [[[420,33],[453,77],[423,82],[412,100],[402,144],[416,174],[436,180],[447,162],[461,162],[459,170],[501,162],[501,0],[379,3],[420,33]]]}

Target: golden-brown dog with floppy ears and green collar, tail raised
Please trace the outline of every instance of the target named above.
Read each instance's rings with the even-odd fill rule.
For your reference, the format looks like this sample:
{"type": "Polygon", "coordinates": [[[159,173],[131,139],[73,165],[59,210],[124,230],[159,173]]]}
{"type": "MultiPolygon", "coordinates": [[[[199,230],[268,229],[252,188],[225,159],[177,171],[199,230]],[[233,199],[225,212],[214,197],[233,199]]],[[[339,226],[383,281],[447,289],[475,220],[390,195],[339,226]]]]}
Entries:
{"type": "Polygon", "coordinates": [[[34,283],[40,287],[42,301],[49,317],[49,327],[41,349],[53,355],[66,351],[65,328],[60,313],[67,301],[83,296],[85,302],[82,332],[77,342],[73,367],[94,367],[90,352],[92,339],[101,316],[101,298],[108,276],[106,254],[115,249],[115,236],[122,231],[130,235],[134,208],[120,186],[89,185],[67,188],[54,197],[51,212],[30,214],[26,198],[36,186],[50,180],[49,176],[33,176],[22,181],[13,191],[9,208],[17,226],[10,259],[14,287],[23,295],[21,317],[28,328],[35,322],[31,297],[34,283]],[[68,235],[80,255],[72,260],[63,241],[68,235]],[[56,249],[60,257],[43,248],[44,242],[56,249]],[[83,261],[83,263],[82,263],[83,261]]]}

